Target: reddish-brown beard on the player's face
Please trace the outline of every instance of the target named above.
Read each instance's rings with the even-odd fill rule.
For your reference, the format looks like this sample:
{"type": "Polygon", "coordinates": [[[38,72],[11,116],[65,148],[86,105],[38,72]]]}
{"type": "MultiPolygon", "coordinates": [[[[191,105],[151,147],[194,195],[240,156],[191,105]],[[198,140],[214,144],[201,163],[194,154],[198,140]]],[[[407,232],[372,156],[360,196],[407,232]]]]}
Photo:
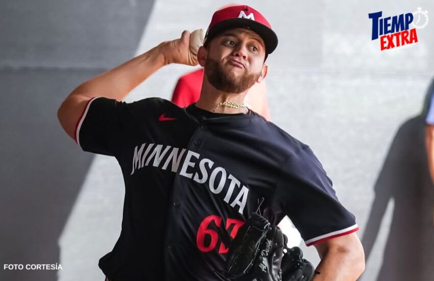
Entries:
{"type": "Polygon", "coordinates": [[[260,76],[260,73],[252,73],[237,76],[232,71],[225,71],[223,65],[218,61],[206,58],[205,75],[209,83],[216,89],[229,92],[240,93],[249,89],[260,76]]]}

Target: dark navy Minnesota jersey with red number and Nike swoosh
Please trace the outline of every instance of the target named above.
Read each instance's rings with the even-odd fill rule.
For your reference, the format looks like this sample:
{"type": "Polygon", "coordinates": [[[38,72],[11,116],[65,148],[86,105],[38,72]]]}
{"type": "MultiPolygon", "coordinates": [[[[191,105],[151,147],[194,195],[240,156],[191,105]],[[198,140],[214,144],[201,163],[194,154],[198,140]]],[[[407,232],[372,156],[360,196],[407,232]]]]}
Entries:
{"type": "Polygon", "coordinates": [[[124,176],[122,231],[99,263],[113,281],[220,280],[222,231],[235,237],[258,206],[273,224],[290,217],[307,245],[358,229],[310,148],[251,110],[93,98],[76,140],[124,176]]]}

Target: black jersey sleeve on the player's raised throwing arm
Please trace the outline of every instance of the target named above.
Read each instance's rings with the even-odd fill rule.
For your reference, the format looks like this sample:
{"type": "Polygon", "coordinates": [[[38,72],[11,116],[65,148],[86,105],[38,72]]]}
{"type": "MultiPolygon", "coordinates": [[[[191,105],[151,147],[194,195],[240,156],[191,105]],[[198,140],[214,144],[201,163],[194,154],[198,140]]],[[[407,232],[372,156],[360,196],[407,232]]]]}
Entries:
{"type": "Polygon", "coordinates": [[[92,98],[76,126],[76,142],[84,151],[114,156],[131,122],[128,104],[104,97],[92,98]]]}

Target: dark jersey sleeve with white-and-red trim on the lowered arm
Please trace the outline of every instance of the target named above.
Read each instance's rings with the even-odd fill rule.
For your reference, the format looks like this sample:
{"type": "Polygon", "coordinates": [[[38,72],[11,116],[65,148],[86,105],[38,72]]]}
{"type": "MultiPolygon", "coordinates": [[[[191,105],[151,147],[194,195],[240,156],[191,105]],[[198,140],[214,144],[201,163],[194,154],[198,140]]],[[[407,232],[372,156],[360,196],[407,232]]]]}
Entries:
{"type": "Polygon", "coordinates": [[[339,202],[308,146],[286,160],[275,198],[307,246],[358,230],[354,215],[339,202]]]}

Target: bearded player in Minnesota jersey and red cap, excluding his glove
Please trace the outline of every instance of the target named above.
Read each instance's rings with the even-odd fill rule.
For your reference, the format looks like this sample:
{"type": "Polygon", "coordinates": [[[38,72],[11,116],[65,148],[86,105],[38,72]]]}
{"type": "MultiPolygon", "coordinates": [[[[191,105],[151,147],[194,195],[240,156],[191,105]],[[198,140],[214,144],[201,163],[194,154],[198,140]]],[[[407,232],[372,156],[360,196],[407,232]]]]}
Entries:
{"type": "Polygon", "coordinates": [[[257,209],[287,215],[321,262],[315,280],[355,280],[364,253],[354,216],[337,200],[310,148],[243,104],[277,46],[269,22],[240,5],[216,11],[193,55],[189,32],[70,93],[58,110],[84,150],[116,157],[125,180],[122,231],[99,266],[110,281],[221,280],[228,245],[257,209]],[[162,66],[204,67],[185,108],[160,98],[122,102],[162,66]]]}

